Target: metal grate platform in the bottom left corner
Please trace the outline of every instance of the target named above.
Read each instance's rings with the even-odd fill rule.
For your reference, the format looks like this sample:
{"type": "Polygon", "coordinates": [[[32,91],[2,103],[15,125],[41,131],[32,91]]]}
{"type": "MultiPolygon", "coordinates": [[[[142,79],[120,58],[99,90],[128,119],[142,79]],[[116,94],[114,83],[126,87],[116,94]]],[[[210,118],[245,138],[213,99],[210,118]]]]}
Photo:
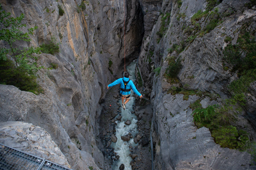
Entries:
{"type": "Polygon", "coordinates": [[[50,162],[49,160],[27,154],[26,152],[5,146],[0,143],[0,169],[8,170],[72,170],[50,162]]]}

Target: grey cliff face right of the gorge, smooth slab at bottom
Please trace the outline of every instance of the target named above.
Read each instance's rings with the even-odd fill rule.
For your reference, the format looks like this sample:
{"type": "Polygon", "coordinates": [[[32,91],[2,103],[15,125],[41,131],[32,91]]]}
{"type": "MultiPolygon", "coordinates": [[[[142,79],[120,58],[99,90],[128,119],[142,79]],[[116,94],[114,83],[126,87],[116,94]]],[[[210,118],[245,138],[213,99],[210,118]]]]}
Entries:
{"type": "MultiPolygon", "coordinates": [[[[152,89],[150,95],[154,116],[151,130],[154,132],[156,150],[154,169],[255,169],[250,165],[250,154],[221,148],[214,142],[209,129],[197,129],[191,115],[193,111],[189,108],[197,99],[206,108],[229,97],[227,86],[237,78],[237,73],[223,69],[222,52],[227,46],[225,37],[232,37],[232,43],[236,43],[237,30],[243,24],[251,31],[255,30],[255,6],[252,10],[245,7],[245,3],[250,1],[220,1],[215,10],[218,8],[222,22],[213,30],[198,36],[191,17],[199,10],[205,11],[209,1],[153,1],[152,5],[146,0],[141,2],[143,10],[154,6],[160,7],[159,11],[162,12],[151,22],[155,23],[151,32],[146,34],[145,29],[138,63],[143,82],[148,88],[145,91],[152,89]],[[231,13],[228,11],[230,8],[233,8],[231,13]],[[225,12],[229,14],[224,16],[225,12]],[[167,21],[169,16],[170,22],[167,21]],[[165,29],[162,35],[161,29],[165,29]],[[174,49],[175,45],[177,49],[174,49]],[[170,83],[164,76],[169,66],[167,58],[172,56],[181,59],[178,83],[170,83]],[[159,68],[159,74],[154,72],[156,68],[159,68]],[[171,95],[168,92],[173,87],[208,91],[219,97],[210,100],[205,96],[190,95],[184,99],[183,94],[171,95]]],[[[146,18],[148,11],[143,12],[146,18]]],[[[199,30],[203,30],[209,20],[201,18],[197,23],[199,30]]],[[[240,116],[249,129],[252,129],[252,125],[248,121],[255,124],[253,84],[255,82],[251,84],[246,106],[240,116]]],[[[255,129],[252,133],[255,134],[255,129]]]]}

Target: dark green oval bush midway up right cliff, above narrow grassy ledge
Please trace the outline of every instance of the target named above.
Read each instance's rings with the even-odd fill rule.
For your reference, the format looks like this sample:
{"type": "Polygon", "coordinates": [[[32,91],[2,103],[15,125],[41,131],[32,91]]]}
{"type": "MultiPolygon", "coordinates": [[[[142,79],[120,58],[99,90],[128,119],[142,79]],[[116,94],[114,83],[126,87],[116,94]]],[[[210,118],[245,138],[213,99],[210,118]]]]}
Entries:
{"type": "Polygon", "coordinates": [[[170,78],[177,78],[177,75],[179,74],[181,68],[182,64],[180,58],[178,58],[177,61],[175,62],[175,58],[171,57],[169,58],[169,67],[167,67],[165,73],[170,78]]]}

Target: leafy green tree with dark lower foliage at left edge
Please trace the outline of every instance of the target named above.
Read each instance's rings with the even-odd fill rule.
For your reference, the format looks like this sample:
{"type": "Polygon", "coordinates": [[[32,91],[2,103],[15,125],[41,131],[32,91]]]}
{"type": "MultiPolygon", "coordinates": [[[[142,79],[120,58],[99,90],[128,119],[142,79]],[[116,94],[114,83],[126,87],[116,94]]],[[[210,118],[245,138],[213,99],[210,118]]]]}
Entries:
{"type": "Polygon", "coordinates": [[[10,15],[11,13],[5,12],[0,5],[0,40],[5,44],[5,47],[0,48],[0,83],[11,84],[21,90],[36,93],[38,85],[35,73],[38,67],[34,54],[41,53],[41,48],[20,47],[15,43],[17,41],[29,42],[31,40],[29,35],[33,35],[37,27],[28,29],[28,32],[22,32],[21,29],[26,27],[26,24],[22,23],[24,14],[17,18],[10,15]]]}

